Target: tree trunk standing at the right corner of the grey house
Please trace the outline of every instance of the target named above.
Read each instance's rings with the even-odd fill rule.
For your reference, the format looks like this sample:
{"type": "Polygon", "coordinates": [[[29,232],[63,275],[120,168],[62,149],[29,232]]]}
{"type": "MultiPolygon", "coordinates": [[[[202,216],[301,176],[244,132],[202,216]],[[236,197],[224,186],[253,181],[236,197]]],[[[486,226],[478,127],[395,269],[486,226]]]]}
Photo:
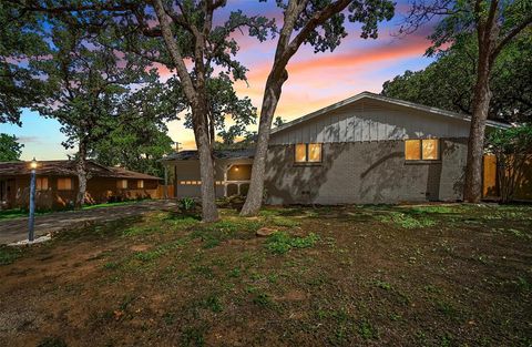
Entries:
{"type": "Polygon", "coordinates": [[[485,121],[490,110],[490,54],[489,49],[479,50],[477,83],[474,85],[473,114],[468,141],[468,164],[463,198],[478,203],[482,198],[482,156],[484,153],[485,121]]]}

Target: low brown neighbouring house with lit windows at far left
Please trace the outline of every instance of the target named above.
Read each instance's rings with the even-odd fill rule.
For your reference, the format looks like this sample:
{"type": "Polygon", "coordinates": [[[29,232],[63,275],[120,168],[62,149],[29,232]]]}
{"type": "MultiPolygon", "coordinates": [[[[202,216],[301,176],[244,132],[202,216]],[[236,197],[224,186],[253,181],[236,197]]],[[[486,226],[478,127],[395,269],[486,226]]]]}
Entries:
{"type": "MultiPolygon", "coordinates": [[[[28,206],[30,172],[28,162],[0,163],[0,208],[28,206]]],[[[155,176],[106,167],[92,161],[88,161],[88,172],[86,203],[155,197],[161,181],[155,176]]],[[[38,162],[35,188],[38,210],[72,206],[78,194],[75,162],[38,162]]]]}

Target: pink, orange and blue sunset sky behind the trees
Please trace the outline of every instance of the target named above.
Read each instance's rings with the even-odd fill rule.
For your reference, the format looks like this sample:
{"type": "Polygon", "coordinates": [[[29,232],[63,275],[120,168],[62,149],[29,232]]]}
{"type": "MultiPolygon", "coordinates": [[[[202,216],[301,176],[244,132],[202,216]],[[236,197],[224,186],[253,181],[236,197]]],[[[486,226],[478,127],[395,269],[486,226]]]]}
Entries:
{"type": "MultiPolygon", "coordinates": [[[[400,0],[396,6],[396,17],[379,25],[379,38],[361,39],[360,24],[348,23],[348,35],[334,52],[314,53],[308,45],[303,45],[290,60],[288,81],[283,86],[283,94],[277,106],[276,116],[290,121],[313,111],[347,99],[362,91],[379,93],[382,83],[402,74],[406,70],[421,70],[432,60],[423,57],[430,45],[428,28],[406,37],[398,37],[399,23],[408,9],[408,0],[400,0]]],[[[215,22],[222,22],[235,9],[248,14],[264,14],[280,18],[275,1],[228,1],[228,6],[216,14],[215,22]]],[[[279,24],[279,21],[277,20],[279,24]]],[[[247,83],[237,82],[235,89],[239,96],[249,96],[253,104],[260,110],[266,76],[272,67],[275,40],[259,42],[247,37],[246,32],[235,33],[241,45],[237,54],[249,71],[247,83]]],[[[161,70],[163,80],[168,78],[166,69],[161,70]]],[[[58,121],[45,119],[37,112],[24,110],[22,126],[0,124],[0,133],[14,134],[24,144],[22,160],[65,159],[74,150],[65,150],[61,142],[65,140],[58,121]]],[[[194,149],[192,130],[185,129],[183,121],[167,124],[168,135],[180,142],[180,149],[194,149]]],[[[228,122],[231,124],[231,122],[228,122]]],[[[249,127],[256,130],[256,125],[249,127]]]]}

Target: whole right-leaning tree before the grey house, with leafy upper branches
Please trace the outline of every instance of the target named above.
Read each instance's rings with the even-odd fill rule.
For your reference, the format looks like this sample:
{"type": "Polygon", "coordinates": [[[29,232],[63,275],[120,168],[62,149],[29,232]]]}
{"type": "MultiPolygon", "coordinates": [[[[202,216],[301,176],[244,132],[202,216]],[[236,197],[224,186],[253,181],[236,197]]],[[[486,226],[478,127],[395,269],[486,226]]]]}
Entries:
{"type": "Polygon", "coordinates": [[[288,80],[286,67],[299,47],[308,43],[315,53],[335,50],[347,35],[346,9],[349,21],[362,23],[360,35],[365,39],[377,38],[378,23],[393,16],[393,2],[389,0],[288,0],[277,4],[283,10],[283,28],[264,90],[252,181],[241,212],[244,216],[256,215],[262,206],[272,121],[283,84],[288,80]]]}

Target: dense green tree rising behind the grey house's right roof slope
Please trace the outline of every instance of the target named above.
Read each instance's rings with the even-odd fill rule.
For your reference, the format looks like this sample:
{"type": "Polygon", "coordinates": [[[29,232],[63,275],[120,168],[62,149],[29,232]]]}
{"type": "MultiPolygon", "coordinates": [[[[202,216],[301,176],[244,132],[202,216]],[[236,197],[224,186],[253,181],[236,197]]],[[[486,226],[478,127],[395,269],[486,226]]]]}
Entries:
{"type": "MultiPolygon", "coordinates": [[[[477,42],[473,35],[437,54],[421,71],[406,71],[382,85],[390,98],[472,114],[477,42]]],[[[490,80],[489,119],[504,122],[532,120],[532,31],[523,32],[501,52],[490,80]]]]}

